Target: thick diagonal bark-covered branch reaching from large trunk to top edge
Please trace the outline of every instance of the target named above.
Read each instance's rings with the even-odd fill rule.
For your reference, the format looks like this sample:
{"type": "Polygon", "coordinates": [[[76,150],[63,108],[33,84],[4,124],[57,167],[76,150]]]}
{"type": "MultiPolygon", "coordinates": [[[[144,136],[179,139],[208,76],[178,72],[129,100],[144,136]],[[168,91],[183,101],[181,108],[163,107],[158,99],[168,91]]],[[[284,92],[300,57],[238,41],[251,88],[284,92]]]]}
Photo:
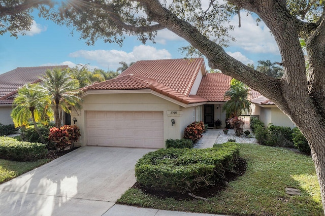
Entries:
{"type": "MultiPolygon", "coordinates": [[[[222,47],[202,35],[197,28],[161,6],[159,1],[140,0],[138,2],[142,4],[145,12],[153,21],[167,26],[169,30],[184,38],[204,54],[212,69],[220,69],[223,74],[245,82],[265,96],[271,96],[270,89],[272,91],[281,89],[279,80],[270,78],[226,54],[222,47]]],[[[273,92],[273,95],[281,95],[281,93],[280,91],[273,92]]]]}

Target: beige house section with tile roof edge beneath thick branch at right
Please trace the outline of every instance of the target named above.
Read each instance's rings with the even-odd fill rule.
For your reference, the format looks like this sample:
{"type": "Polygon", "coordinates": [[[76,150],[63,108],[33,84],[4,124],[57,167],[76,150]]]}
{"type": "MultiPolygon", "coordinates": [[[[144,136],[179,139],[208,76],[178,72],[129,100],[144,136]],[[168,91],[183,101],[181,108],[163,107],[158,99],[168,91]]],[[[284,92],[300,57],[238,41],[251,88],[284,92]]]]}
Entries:
{"type": "Polygon", "coordinates": [[[259,119],[267,127],[272,123],[276,126],[294,128],[295,124],[287,117],[274,102],[259,94],[258,97],[251,99],[251,115],[258,115],[259,119]]]}

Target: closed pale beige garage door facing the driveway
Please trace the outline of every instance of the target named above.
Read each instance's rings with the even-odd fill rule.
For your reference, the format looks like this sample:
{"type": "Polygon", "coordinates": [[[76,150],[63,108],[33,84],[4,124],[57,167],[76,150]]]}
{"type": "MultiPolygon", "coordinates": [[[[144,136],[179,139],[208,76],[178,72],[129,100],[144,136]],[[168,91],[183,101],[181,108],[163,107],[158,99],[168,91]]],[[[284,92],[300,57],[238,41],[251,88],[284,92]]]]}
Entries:
{"type": "Polygon", "coordinates": [[[87,111],[87,145],[164,148],[163,112],[87,111]]]}

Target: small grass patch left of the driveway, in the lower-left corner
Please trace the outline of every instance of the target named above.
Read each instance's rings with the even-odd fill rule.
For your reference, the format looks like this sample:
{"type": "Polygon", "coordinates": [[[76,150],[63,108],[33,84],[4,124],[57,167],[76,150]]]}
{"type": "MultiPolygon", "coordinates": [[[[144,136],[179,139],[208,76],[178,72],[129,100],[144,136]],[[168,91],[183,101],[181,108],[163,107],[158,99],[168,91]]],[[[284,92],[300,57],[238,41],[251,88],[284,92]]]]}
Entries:
{"type": "Polygon", "coordinates": [[[18,162],[0,159],[0,184],[9,181],[25,172],[48,163],[51,159],[41,159],[31,162],[18,162]]]}

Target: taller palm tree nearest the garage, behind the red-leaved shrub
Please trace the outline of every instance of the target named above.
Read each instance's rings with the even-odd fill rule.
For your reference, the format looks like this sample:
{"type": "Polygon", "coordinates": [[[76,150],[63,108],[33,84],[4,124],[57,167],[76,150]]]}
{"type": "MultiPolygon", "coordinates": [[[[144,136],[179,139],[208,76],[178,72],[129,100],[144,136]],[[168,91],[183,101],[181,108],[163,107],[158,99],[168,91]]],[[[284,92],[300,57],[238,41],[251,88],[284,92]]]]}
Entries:
{"type": "Polygon", "coordinates": [[[78,107],[81,98],[78,80],[71,79],[67,69],[55,68],[46,70],[46,75],[42,78],[44,85],[43,92],[47,93],[51,100],[51,107],[54,112],[56,127],[60,127],[63,113],[70,113],[71,107],[78,107]]]}

